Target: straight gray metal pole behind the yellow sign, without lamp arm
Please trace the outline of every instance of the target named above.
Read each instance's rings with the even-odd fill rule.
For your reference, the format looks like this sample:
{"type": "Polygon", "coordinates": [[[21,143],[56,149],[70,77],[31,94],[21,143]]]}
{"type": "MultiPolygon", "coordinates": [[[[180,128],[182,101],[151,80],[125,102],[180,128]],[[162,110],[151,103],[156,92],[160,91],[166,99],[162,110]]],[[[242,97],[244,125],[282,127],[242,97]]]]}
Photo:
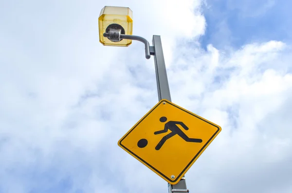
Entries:
{"type": "MultiPolygon", "coordinates": [[[[160,35],[153,35],[152,44],[154,47],[154,62],[158,91],[158,101],[162,99],[167,99],[171,101],[160,35]]],[[[186,188],[184,176],[179,181],[179,183],[175,185],[171,185],[168,183],[168,193],[188,193],[188,192],[189,191],[186,188]]]]}

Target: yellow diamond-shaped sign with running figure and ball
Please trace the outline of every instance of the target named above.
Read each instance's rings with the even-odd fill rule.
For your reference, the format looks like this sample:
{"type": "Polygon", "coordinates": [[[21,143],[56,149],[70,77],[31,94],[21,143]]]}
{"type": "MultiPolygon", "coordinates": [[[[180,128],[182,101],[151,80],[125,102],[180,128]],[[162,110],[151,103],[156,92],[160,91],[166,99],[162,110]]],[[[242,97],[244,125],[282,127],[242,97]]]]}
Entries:
{"type": "Polygon", "coordinates": [[[170,184],[176,184],[221,128],[178,105],[161,100],[118,142],[170,184]]]}

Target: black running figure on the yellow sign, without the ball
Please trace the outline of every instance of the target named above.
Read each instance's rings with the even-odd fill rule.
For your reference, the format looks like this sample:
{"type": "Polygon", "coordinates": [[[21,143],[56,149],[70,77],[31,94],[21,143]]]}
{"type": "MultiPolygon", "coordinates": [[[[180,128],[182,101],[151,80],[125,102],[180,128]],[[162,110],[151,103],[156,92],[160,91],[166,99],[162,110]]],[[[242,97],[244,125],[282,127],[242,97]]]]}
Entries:
{"type": "MultiPolygon", "coordinates": [[[[163,116],[159,120],[160,120],[160,122],[164,123],[167,121],[167,118],[165,116],[163,116]]],[[[201,139],[189,138],[186,134],[184,134],[184,132],[177,125],[182,126],[183,129],[185,129],[185,130],[188,130],[188,127],[186,127],[186,125],[184,125],[184,123],[181,121],[168,121],[167,123],[164,124],[163,130],[159,130],[159,131],[154,132],[154,135],[157,135],[157,134],[167,132],[168,129],[171,130],[171,133],[168,133],[167,135],[165,135],[160,140],[160,142],[156,145],[156,147],[155,147],[156,150],[159,150],[162,147],[162,145],[164,145],[166,140],[168,140],[169,138],[173,137],[176,134],[178,134],[186,142],[194,142],[194,143],[201,143],[202,142],[201,139]]]]}

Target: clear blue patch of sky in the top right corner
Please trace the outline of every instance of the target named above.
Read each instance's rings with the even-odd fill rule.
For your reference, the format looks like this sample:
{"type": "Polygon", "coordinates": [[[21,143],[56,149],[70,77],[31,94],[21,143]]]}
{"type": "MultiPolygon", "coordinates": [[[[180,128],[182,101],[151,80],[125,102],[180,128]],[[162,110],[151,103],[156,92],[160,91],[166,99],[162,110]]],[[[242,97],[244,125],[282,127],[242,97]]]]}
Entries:
{"type": "Polygon", "coordinates": [[[269,40],[291,42],[290,1],[207,0],[202,13],[207,28],[202,46],[241,46],[269,40]]]}

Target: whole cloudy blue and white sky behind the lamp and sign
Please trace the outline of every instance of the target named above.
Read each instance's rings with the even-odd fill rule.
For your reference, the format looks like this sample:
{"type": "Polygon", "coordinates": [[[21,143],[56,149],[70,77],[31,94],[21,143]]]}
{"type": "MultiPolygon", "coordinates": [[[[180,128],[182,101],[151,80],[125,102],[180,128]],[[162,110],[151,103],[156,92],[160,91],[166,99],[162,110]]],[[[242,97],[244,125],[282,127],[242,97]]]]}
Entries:
{"type": "Polygon", "coordinates": [[[172,102],[222,128],[190,193],[291,193],[290,4],[0,0],[0,193],[167,192],[117,145],[158,98],[142,43],[99,43],[106,5],[161,35],[172,102]]]}

